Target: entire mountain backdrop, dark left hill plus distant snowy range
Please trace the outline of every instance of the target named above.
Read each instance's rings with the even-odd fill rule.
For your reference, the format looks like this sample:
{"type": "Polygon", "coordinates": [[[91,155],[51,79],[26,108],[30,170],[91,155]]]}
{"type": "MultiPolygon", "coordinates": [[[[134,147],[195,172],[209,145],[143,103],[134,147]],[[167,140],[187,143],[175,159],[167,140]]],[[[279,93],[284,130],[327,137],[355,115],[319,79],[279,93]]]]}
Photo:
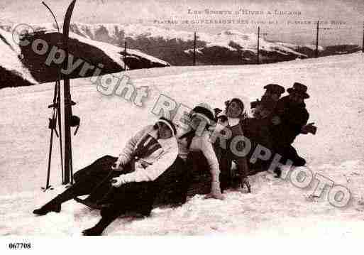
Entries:
{"type": "MultiPolygon", "coordinates": [[[[45,65],[45,56],[39,56],[28,48],[19,48],[13,42],[16,24],[0,24],[0,88],[51,82],[57,77],[57,65],[45,65]]],[[[30,24],[35,39],[44,39],[52,45],[62,40],[55,24],[30,24]]],[[[62,24],[61,26],[62,27],[62,24]]],[[[70,53],[96,66],[104,65],[102,73],[120,72],[127,69],[192,65],[194,34],[187,31],[116,23],[72,23],[70,53]],[[127,45],[124,57],[124,43],[127,45]],[[134,49],[134,50],[131,50],[134,49]]],[[[243,65],[257,60],[257,35],[228,30],[216,35],[197,34],[197,65],[243,65]]],[[[314,45],[270,42],[260,38],[260,63],[311,58],[314,45]]],[[[358,45],[319,46],[320,55],[353,53],[358,45]]],[[[81,67],[79,67],[81,69],[81,67]]],[[[75,70],[70,77],[79,77],[75,70]]],[[[93,75],[89,70],[86,76],[93,75]]]]}

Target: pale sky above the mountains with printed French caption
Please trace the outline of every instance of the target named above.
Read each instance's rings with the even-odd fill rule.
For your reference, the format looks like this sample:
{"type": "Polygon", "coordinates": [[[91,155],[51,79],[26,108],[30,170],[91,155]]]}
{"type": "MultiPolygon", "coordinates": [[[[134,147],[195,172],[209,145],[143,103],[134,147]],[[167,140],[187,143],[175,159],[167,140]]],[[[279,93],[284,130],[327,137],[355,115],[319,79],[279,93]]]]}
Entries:
{"type": "MultiPolygon", "coordinates": [[[[46,3],[62,22],[70,1],[46,0],[46,3]]],[[[38,0],[0,0],[0,10],[0,22],[3,23],[53,21],[38,0]]],[[[72,21],[82,23],[142,23],[175,30],[197,31],[197,33],[219,33],[227,29],[257,33],[260,26],[264,38],[290,43],[313,43],[318,20],[321,21],[319,30],[321,45],[339,43],[361,45],[364,1],[77,0],[72,16],[72,21]],[[226,13],[206,13],[206,10],[226,11],[226,13]],[[204,23],[201,23],[202,21],[204,23]],[[227,23],[229,21],[234,23],[227,23]],[[216,22],[222,23],[216,24],[216,22]]]]}

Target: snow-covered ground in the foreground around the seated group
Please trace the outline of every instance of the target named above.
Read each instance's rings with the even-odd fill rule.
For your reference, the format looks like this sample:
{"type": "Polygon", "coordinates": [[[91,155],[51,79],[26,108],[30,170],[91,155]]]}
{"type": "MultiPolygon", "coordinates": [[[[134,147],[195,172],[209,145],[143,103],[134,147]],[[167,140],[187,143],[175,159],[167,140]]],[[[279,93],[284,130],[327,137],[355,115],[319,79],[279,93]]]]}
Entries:
{"type": "MultiPolygon", "coordinates": [[[[324,192],[301,190],[269,173],[250,177],[252,193],[226,192],[226,200],[191,198],[186,205],[156,208],[147,219],[119,218],[108,235],[244,234],[248,237],[361,237],[364,227],[364,55],[351,54],[270,65],[170,67],[126,72],[137,87],[150,94],[142,108],[125,99],[106,97],[87,79],[72,81],[74,112],[81,126],[73,141],[75,169],[106,154],[117,155],[128,137],[155,121],[151,111],[160,93],[193,107],[204,101],[222,107],[239,94],[253,100],[263,85],[293,82],[309,87],[310,121],[316,136],[299,136],[294,146],[314,173],[351,190],[344,209],[333,207],[324,192]]],[[[45,185],[51,86],[35,85],[0,91],[0,234],[79,235],[98,219],[97,211],[70,201],[60,214],[34,217],[31,211],[62,190],[59,152],[55,150],[51,183],[45,185]],[[21,94],[21,97],[19,97],[21,94]],[[19,109],[18,104],[22,108],[19,109]],[[7,114],[11,112],[11,114],[7,114]]],[[[57,144],[57,143],[56,143],[57,144]]]]}

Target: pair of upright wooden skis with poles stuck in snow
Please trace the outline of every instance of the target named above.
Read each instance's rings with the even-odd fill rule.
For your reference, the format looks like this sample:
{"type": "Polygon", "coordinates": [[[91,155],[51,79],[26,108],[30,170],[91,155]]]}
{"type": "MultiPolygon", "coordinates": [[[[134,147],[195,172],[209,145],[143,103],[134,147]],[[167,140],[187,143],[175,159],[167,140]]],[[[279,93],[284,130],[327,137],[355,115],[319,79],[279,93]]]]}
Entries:
{"type": "MultiPolygon", "coordinates": [[[[63,38],[62,38],[62,49],[65,50],[65,61],[63,62],[63,68],[67,69],[68,63],[68,40],[70,34],[70,22],[72,17],[72,12],[75,7],[76,0],[73,0],[67,8],[67,12],[65,14],[65,21],[63,22],[63,38]]],[[[52,14],[55,19],[55,24],[57,26],[57,31],[60,33],[60,27],[58,26],[57,19],[55,15],[51,11],[51,9],[43,2],[43,4],[47,7],[47,9],[52,14]]],[[[72,105],[75,105],[75,102],[72,102],[71,93],[70,93],[70,78],[67,75],[62,75],[60,72],[60,68],[57,73],[57,80],[55,82],[55,93],[53,97],[53,104],[49,107],[53,108],[53,116],[50,119],[49,128],[51,129],[50,133],[50,150],[48,156],[48,172],[47,172],[47,183],[43,190],[48,190],[51,188],[50,186],[50,163],[52,158],[52,146],[53,146],[53,133],[55,133],[60,139],[60,153],[61,153],[61,170],[62,170],[62,184],[73,183],[73,169],[72,169],[72,139],[71,139],[71,126],[79,126],[79,117],[72,115],[72,105]],[[61,127],[61,87],[60,83],[63,80],[63,95],[64,95],[64,148],[65,148],[65,164],[63,166],[63,153],[62,153],[62,127],[61,127]],[[57,134],[57,124],[60,134],[57,134]],[[64,168],[63,168],[64,167],[64,168]]],[[[78,127],[77,127],[78,129],[78,127]]]]}

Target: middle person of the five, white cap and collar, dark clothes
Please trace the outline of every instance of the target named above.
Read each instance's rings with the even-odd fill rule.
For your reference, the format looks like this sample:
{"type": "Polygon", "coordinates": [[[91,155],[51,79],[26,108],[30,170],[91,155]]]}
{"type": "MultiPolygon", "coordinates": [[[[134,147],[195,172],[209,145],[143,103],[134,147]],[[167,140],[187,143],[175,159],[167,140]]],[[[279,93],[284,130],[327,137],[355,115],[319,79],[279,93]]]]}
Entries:
{"type": "MultiPolygon", "coordinates": [[[[244,103],[241,99],[233,98],[225,102],[226,109],[224,112],[220,112],[217,116],[218,126],[224,126],[224,129],[229,129],[231,131],[231,138],[228,139],[225,145],[221,144],[219,139],[216,139],[214,143],[214,148],[216,155],[219,159],[220,164],[220,180],[221,180],[221,190],[226,190],[227,188],[236,188],[236,186],[241,185],[242,187],[246,185],[248,192],[250,192],[250,183],[248,180],[248,163],[246,156],[239,156],[238,153],[234,153],[231,149],[231,141],[236,136],[243,136],[243,130],[241,129],[241,121],[246,118],[244,112],[244,103]],[[231,172],[231,166],[233,161],[236,163],[237,173],[233,175],[231,172]]],[[[222,131],[224,131],[224,129],[222,131]]],[[[241,141],[240,143],[243,143],[241,141]]],[[[241,144],[238,144],[236,148],[238,151],[241,144]]]]}

